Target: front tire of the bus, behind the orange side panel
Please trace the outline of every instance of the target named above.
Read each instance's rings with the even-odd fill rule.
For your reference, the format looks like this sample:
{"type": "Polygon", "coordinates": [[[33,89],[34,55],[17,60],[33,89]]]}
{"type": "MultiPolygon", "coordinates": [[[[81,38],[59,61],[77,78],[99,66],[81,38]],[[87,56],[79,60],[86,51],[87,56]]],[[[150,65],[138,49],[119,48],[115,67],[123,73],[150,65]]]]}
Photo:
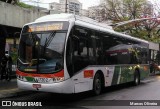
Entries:
{"type": "Polygon", "coordinates": [[[102,91],[102,79],[100,73],[96,73],[93,80],[93,94],[99,95],[102,91]]]}

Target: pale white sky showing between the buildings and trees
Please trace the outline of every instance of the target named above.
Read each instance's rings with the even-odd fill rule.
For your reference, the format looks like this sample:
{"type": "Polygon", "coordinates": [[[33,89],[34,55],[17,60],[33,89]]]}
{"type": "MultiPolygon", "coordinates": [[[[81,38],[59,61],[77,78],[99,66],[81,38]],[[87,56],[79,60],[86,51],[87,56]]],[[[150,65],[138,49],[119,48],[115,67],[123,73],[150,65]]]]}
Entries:
{"type": "MultiPolygon", "coordinates": [[[[24,1],[25,3],[31,3],[31,1],[40,1],[41,3],[43,4],[37,4],[37,3],[32,3],[33,5],[39,5],[39,6],[42,6],[42,7],[45,7],[45,8],[49,8],[49,5],[48,3],[51,3],[51,2],[58,2],[59,3],[59,0],[20,0],[20,1],[24,1]]],[[[79,2],[82,3],[82,9],[87,9],[88,7],[91,7],[91,6],[96,6],[99,4],[99,1],[100,0],[79,0],[79,2]]]]}

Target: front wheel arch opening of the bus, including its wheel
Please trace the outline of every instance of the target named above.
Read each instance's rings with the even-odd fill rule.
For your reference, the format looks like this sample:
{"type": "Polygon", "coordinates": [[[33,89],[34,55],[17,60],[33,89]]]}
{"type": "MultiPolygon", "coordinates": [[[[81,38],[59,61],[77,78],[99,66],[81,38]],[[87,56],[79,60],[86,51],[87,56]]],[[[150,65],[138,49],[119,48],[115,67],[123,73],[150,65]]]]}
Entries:
{"type": "Polygon", "coordinates": [[[102,89],[104,88],[104,75],[101,70],[98,70],[95,73],[94,79],[93,79],[93,94],[99,95],[102,92],[102,89]]]}

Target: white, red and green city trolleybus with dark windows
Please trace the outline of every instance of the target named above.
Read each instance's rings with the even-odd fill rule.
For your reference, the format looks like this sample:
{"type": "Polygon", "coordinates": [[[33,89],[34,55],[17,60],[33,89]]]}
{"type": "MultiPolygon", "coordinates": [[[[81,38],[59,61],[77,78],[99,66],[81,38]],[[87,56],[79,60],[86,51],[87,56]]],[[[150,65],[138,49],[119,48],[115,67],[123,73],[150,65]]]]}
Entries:
{"type": "Polygon", "coordinates": [[[53,14],[24,25],[19,42],[20,89],[98,95],[104,87],[149,76],[148,42],[87,17],[53,14]]]}

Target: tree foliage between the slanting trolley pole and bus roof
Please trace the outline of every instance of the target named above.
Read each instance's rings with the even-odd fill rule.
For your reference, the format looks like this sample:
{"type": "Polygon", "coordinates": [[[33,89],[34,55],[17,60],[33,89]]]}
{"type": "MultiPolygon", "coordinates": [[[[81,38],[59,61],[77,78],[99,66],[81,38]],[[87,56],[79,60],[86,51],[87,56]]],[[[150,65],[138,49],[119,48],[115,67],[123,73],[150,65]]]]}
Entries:
{"type": "Polygon", "coordinates": [[[148,41],[160,42],[160,21],[157,18],[148,18],[146,20],[134,21],[115,27],[119,32],[125,32],[132,36],[142,38],[148,41]]]}

